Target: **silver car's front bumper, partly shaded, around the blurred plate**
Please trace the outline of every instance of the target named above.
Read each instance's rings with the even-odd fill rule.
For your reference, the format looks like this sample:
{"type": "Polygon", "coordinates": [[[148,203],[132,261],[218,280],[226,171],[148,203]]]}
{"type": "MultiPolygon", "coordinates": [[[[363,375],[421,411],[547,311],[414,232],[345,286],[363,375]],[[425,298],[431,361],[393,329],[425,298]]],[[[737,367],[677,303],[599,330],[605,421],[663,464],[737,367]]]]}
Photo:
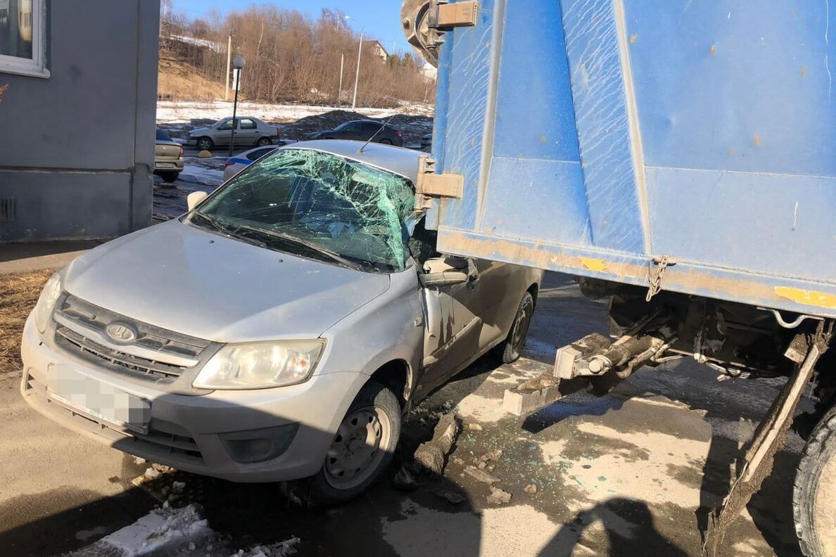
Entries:
{"type": "Polygon", "coordinates": [[[146,386],[127,381],[118,372],[44,342],[31,317],[21,352],[21,393],[47,418],[152,462],[236,482],[301,479],[317,473],[340,421],[368,378],[335,372],[291,387],[200,396],[162,392],[153,382],[146,386]],[[51,390],[54,367],[79,377],[75,390],[104,385],[149,403],[147,431],[131,431],[60,401],[51,390]]]}

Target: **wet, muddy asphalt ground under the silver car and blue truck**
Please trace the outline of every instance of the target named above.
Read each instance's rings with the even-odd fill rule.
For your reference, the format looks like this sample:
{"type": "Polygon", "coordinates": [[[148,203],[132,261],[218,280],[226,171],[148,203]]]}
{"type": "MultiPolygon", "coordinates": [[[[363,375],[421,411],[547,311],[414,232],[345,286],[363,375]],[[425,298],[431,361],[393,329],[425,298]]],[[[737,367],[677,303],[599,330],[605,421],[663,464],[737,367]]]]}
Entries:
{"type": "MultiPolygon", "coordinates": [[[[224,540],[182,555],[215,557],[223,548],[228,557],[229,549],[293,536],[303,556],[699,555],[706,509],[726,493],[730,466],[780,382],[719,382],[683,360],[637,372],[607,397],[573,395],[528,418],[502,413],[507,387],[550,366],[555,347],[601,331],[605,312],[568,277],[548,276],[525,357],[500,367],[483,359],[433,393],[405,424],[395,467],[338,509],[294,504],[278,485],[187,473],[135,487],[131,479],[147,465],[41,418],[19,397],[18,379],[0,372],[0,554],[83,547],[146,514],[181,481],[174,504],[199,504],[224,540]],[[397,465],[430,437],[445,404],[466,425],[444,476],[421,478],[411,492],[394,489],[397,465]],[[512,495],[507,504],[488,502],[487,485],[464,473],[497,449],[502,456],[489,463],[512,495]],[[439,489],[462,501],[451,504],[439,489]]],[[[791,435],[723,554],[799,554],[790,501],[801,447],[791,435]]]]}

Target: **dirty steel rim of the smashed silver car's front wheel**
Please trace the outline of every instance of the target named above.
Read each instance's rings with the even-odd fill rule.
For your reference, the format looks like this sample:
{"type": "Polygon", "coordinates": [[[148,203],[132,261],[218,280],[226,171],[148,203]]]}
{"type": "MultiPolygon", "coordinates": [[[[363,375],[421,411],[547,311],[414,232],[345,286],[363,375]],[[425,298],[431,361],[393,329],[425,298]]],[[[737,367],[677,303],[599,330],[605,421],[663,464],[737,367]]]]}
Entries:
{"type": "Polygon", "coordinates": [[[335,489],[363,484],[380,466],[391,435],[392,424],[382,408],[369,406],[349,413],[325,457],[325,481],[335,489]]]}

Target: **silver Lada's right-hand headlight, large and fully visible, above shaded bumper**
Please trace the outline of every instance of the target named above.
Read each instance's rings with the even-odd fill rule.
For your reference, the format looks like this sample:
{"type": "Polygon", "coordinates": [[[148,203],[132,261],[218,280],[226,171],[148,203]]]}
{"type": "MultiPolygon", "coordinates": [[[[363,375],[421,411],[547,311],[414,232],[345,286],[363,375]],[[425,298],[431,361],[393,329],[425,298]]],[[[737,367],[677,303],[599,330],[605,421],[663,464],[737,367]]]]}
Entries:
{"type": "Polygon", "coordinates": [[[257,389],[305,382],[314,372],[325,341],[227,344],[192,383],[206,389],[257,389]]]}

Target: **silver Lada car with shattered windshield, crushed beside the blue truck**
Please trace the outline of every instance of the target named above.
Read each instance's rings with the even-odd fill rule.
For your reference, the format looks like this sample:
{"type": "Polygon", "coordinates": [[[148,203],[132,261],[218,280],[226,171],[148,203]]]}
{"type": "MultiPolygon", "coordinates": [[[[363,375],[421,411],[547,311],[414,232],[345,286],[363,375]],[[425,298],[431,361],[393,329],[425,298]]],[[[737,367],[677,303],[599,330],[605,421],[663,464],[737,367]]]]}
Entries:
{"type": "Polygon", "coordinates": [[[542,271],[437,253],[420,153],[361,145],[277,149],[56,273],[23,332],[26,401],[189,472],[305,479],[322,504],[367,488],[411,404],[519,357],[542,271]]]}

